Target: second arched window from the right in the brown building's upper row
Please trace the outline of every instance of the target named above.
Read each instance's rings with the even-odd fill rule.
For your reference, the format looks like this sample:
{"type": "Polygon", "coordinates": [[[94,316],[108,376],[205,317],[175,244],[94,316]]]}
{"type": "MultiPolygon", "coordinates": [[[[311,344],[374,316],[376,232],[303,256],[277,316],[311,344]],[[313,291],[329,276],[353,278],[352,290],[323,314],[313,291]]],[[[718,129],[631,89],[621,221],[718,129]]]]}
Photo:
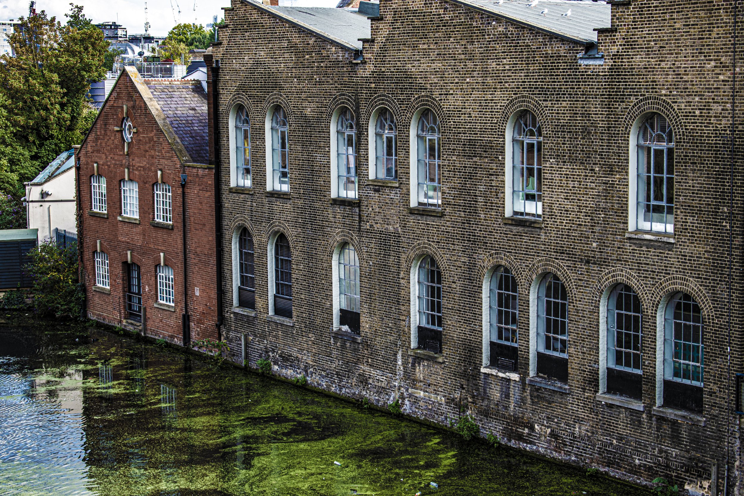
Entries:
{"type": "Polygon", "coordinates": [[[520,112],[513,123],[511,157],[507,216],[511,210],[512,216],[542,219],[542,129],[529,110],[520,112]]]}

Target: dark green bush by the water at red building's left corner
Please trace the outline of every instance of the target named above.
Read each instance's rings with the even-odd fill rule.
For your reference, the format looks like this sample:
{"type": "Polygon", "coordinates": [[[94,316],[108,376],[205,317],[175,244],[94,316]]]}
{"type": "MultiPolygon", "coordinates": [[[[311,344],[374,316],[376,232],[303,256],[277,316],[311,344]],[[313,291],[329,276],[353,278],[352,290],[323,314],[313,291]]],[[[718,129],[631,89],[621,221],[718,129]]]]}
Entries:
{"type": "Polygon", "coordinates": [[[59,248],[54,242],[42,242],[28,252],[26,268],[33,278],[33,306],[45,317],[82,318],[83,288],[77,277],[77,243],[59,248]]]}

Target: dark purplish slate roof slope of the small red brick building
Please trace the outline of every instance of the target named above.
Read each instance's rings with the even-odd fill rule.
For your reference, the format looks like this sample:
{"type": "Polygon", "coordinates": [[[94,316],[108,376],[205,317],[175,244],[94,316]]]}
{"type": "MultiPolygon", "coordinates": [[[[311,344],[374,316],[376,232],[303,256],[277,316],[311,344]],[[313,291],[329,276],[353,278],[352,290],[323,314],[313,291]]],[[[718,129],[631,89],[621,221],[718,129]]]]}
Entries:
{"type": "Polygon", "coordinates": [[[144,80],[194,164],[209,163],[207,95],[199,80],[144,80]]]}

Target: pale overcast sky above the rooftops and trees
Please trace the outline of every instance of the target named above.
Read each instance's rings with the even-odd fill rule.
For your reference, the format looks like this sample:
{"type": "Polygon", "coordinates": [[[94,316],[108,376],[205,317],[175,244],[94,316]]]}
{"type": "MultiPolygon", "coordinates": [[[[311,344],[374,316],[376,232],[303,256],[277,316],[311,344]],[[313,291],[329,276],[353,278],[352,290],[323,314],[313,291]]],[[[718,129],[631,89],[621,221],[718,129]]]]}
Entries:
{"type": "MultiPolygon", "coordinates": [[[[124,25],[128,33],[144,32],[144,0],[37,0],[36,10],[46,10],[48,16],[57,16],[65,22],[65,13],[70,10],[70,2],[83,5],[83,13],[93,22],[116,21],[124,25]]],[[[228,7],[230,0],[148,0],[147,19],[150,33],[165,36],[170,28],[179,22],[194,22],[206,25],[212,16],[222,19],[222,9],[228,7]],[[170,5],[173,2],[173,10],[170,5]],[[179,7],[181,15],[179,16],[179,7]],[[175,15],[175,19],[174,19],[175,15]],[[179,20],[180,19],[180,20],[179,20]]],[[[292,0],[297,7],[336,7],[338,0],[292,0]]],[[[287,3],[289,5],[289,1],[287,3]]],[[[28,0],[0,0],[0,20],[18,19],[28,16],[28,0]]]]}

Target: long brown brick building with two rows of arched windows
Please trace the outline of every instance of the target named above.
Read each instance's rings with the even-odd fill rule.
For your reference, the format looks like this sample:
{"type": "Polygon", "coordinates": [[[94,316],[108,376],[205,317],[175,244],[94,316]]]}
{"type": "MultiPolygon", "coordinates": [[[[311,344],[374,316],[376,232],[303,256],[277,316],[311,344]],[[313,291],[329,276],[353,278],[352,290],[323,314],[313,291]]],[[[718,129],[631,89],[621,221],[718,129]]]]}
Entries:
{"type": "Polygon", "coordinates": [[[744,494],[734,3],[375,9],[232,0],[205,56],[235,359],[744,494]]]}

